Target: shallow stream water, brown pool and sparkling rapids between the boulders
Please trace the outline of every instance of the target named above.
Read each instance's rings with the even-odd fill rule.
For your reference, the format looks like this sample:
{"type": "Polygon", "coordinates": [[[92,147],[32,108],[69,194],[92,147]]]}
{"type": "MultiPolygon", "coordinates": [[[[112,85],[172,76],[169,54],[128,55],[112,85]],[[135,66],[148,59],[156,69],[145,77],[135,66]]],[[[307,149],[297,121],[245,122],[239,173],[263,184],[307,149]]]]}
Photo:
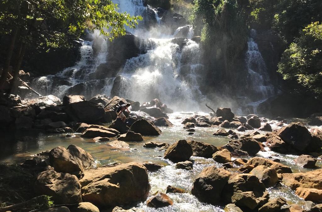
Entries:
{"type": "MultiPolygon", "coordinates": [[[[191,157],[194,160],[194,169],[186,171],[175,169],[175,164],[163,158],[164,152],[157,149],[143,148],[143,144],[147,141],[174,143],[180,139],[196,140],[205,143],[210,143],[215,146],[222,146],[230,139],[227,137],[213,136],[212,134],[218,129],[217,127],[194,128],[196,132],[194,135],[188,135],[186,129],[183,129],[181,124],[182,119],[195,115],[194,113],[182,114],[174,113],[170,115],[169,120],[175,125],[173,127],[160,127],[162,134],[160,136],[144,136],[144,142],[130,142],[130,149],[128,151],[113,150],[106,143],[94,143],[92,139],[80,137],[80,134],[73,134],[72,137],[65,137],[65,134],[47,135],[43,133],[35,134],[29,132],[30,137],[24,137],[26,134],[6,134],[0,149],[0,156],[2,161],[17,163],[30,156],[25,152],[37,153],[45,150],[50,150],[57,146],[65,146],[67,148],[70,144],[80,146],[94,157],[96,166],[102,166],[112,163],[126,163],[131,161],[137,162],[155,162],[163,164],[166,167],[157,172],[149,172],[149,180],[151,190],[149,196],[152,196],[157,191],[165,192],[168,185],[185,189],[188,193],[185,194],[168,194],[174,201],[173,206],[164,208],[150,208],[146,206],[145,202],[141,202],[136,207],[142,208],[147,212],[154,211],[223,211],[223,207],[216,207],[209,204],[201,203],[191,195],[193,181],[196,176],[207,166],[216,165],[222,167],[213,159],[205,159],[200,157],[191,157]],[[180,118],[177,118],[180,117],[180,118]],[[21,139],[24,138],[24,139],[21,139]],[[17,141],[20,140],[20,141],[17,141]]],[[[207,115],[199,113],[199,115],[207,115]]],[[[289,120],[289,122],[294,120],[289,120]]],[[[304,120],[295,120],[304,121],[304,120]]],[[[271,123],[273,129],[277,129],[274,122],[271,123]]],[[[235,130],[236,131],[236,130],[235,130]]],[[[236,131],[237,132],[237,131],[236,131]]],[[[239,133],[239,132],[237,132],[239,133]]],[[[113,140],[113,139],[111,139],[113,140]]],[[[295,155],[283,155],[272,152],[268,148],[267,152],[259,152],[258,156],[279,158],[281,163],[291,167],[293,172],[306,172],[311,169],[299,167],[293,160],[297,157],[295,155]]],[[[249,158],[246,158],[249,159],[249,158]]],[[[317,162],[321,167],[321,160],[317,162]]],[[[230,171],[237,171],[238,167],[234,167],[230,171]]],[[[274,188],[268,189],[270,198],[284,197],[289,203],[302,203],[303,199],[298,198],[294,191],[283,185],[277,185],[274,188]]]]}

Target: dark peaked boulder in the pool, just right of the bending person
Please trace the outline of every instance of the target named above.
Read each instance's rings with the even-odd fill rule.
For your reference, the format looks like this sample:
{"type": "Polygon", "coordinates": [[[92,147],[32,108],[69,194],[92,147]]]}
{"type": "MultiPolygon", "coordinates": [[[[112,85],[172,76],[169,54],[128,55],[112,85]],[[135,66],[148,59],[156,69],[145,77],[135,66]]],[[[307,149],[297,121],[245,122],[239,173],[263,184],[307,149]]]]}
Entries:
{"type": "Polygon", "coordinates": [[[142,118],[131,125],[131,131],[141,135],[160,135],[161,130],[142,118]]]}

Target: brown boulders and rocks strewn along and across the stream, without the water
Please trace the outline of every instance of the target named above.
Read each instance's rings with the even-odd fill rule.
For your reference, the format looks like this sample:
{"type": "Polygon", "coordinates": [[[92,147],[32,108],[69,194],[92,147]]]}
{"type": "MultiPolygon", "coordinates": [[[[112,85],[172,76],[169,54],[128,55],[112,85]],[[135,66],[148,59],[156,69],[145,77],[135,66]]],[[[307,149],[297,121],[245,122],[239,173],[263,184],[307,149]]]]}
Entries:
{"type": "MultiPolygon", "coordinates": [[[[167,119],[167,114],[173,111],[158,99],[141,105],[103,95],[89,101],[82,96],[65,96],[62,102],[52,95],[24,101],[17,96],[2,95],[0,103],[3,114],[0,121],[7,128],[67,136],[80,133],[93,142],[105,142],[116,149],[127,149],[127,142],[142,142],[144,136],[162,134],[158,126],[173,126],[167,119]],[[118,105],[128,102],[132,108],[129,114],[124,113],[127,121],[122,123],[116,119],[115,110],[118,105]],[[107,127],[104,123],[111,124],[107,127]]],[[[316,123],[316,119],[319,118],[313,118],[311,123],[316,123]]],[[[187,134],[195,133],[195,127],[214,127],[213,136],[232,139],[223,146],[193,140],[179,140],[172,145],[148,141],[142,145],[165,151],[163,157],[173,162],[178,170],[194,169],[191,156],[210,158],[222,164],[222,167],[204,168],[195,178],[191,191],[169,185],[166,193],[191,193],[201,202],[225,207],[225,211],[322,210],[322,169],[316,166],[322,155],[321,131],[309,131],[299,122],[286,124],[280,117],[276,120],[279,120],[279,129],[273,130],[265,118],[257,115],[239,117],[230,108],[218,108],[212,116],[195,115],[183,119],[182,127],[187,134]],[[279,160],[258,157],[257,153],[265,152],[267,148],[281,154],[298,155],[294,162],[313,171],[292,173],[290,167],[279,160]],[[242,158],[245,156],[249,159],[242,158]],[[236,165],[237,170],[233,168],[236,165]],[[283,197],[270,199],[267,189],[277,184],[294,190],[305,200],[305,208],[288,204],[283,197]]],[[[34,176],[29,199],[46,195],[55,205],[64,205],[43,211],[130,212],[142,209],[121,207],[127,208],[139,201],[155,208],[174,204],[174,200],[162,192],[148,198],[149,174],[164,167],[160,164],[129,162],[96,167],[89,152],[71,144],[67,148],[59,146],[40,152],[18,166],[34,176]]],[[[4,169],[3,173],[5,170],[8,171],[4,169]]],[[[7,204],[0,207],[0,211],[18,211],[14,205],[7,204]]]]}

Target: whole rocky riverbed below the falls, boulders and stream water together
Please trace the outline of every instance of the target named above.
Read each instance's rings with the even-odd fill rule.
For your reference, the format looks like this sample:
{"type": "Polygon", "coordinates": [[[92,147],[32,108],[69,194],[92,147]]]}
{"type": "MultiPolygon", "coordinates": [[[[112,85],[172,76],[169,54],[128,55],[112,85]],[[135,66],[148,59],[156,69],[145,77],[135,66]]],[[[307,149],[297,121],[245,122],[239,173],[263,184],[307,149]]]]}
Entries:
{"type": "MultiPolygon", "coordinates": [[[[229,108],[211,116],[105,96],[2,96],[0,109],[1,160],[32,176],[25,201],[48,195],[71,212],[321,208],[319,116],[270,119],[229,108]],[[126,102],[122,124],[115,110],[126,102]]],[[[1,206],[19,203],[8,197],[1,194],[1,206]]]]}

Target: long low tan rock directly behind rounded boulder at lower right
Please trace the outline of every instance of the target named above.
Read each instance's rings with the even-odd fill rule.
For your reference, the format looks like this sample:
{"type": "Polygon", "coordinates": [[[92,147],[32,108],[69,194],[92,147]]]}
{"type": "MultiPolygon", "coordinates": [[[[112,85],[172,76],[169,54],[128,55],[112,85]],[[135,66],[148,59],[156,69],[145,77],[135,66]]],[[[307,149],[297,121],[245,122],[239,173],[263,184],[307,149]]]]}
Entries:
{"type": "Polygon", "coordinates": [[[267,158],[261,158],[261,157],[254,157],[251,158],[246,165],[253,165],[254,167],[264,165],[267,167],[270,167],[272,169],[275,169],[277,173],[292,173],[292,170],[279,162],[274,162],[267,158]]]}

